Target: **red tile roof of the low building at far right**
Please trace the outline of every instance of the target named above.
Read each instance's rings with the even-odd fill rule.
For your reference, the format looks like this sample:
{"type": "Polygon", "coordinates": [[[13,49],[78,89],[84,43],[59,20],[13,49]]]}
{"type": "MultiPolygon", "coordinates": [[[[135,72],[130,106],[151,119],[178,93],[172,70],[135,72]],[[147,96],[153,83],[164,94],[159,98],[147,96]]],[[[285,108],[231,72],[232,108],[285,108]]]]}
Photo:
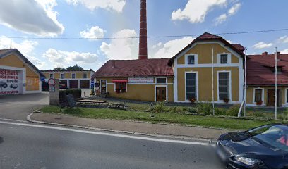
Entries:
{"type": "MultiPolygon", "coordinates": [[[[275,55],[248,55],[247,84],[258,86],[275,85],[275,55]]],[[[277,84],[288,86],[288,54],[280,54],[278,64],[282,66],[282,73],[277,74],[277,84]]]]}

